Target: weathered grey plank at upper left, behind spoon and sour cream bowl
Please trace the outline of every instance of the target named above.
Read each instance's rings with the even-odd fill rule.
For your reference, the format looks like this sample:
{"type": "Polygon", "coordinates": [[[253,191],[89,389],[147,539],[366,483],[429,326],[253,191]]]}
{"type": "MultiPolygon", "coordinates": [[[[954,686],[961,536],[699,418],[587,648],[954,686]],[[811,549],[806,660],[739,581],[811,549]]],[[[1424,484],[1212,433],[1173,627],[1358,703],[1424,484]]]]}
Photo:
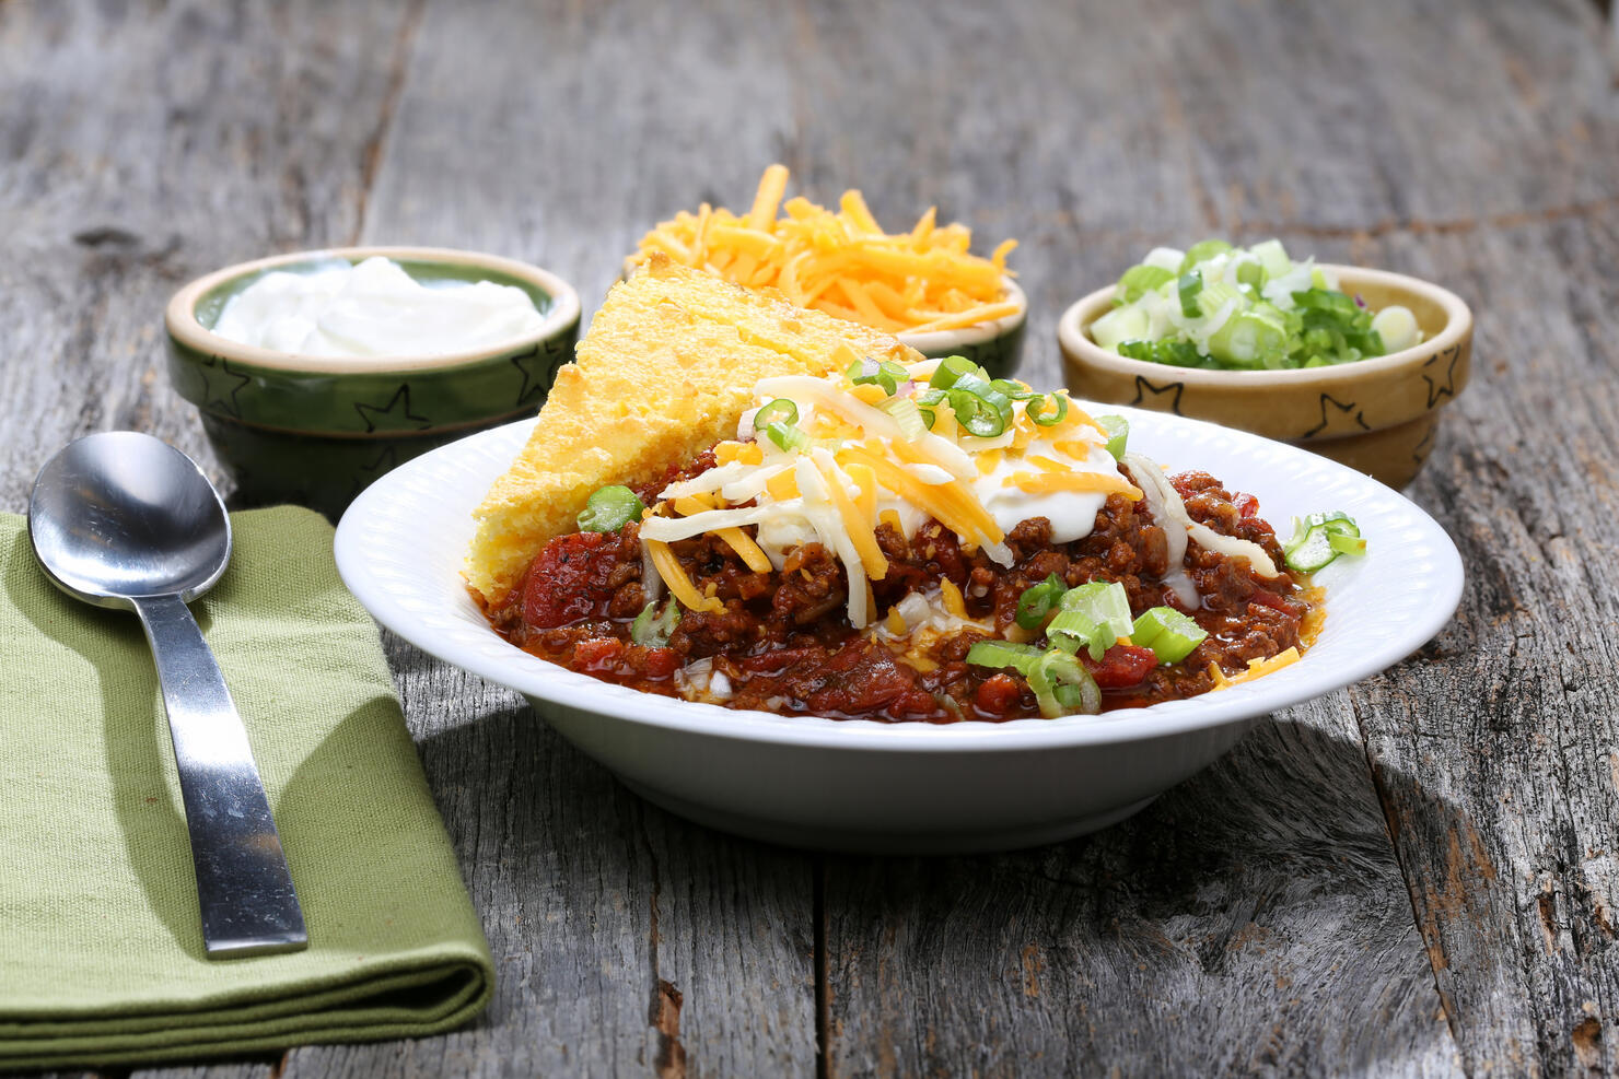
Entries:
{"type": "Polygon", "coordinates": [[[209,468],[168,388],[186,280],[351,241],[397,3],[0,6],[0,506],[68,440],[136,427],[209,468]]]}

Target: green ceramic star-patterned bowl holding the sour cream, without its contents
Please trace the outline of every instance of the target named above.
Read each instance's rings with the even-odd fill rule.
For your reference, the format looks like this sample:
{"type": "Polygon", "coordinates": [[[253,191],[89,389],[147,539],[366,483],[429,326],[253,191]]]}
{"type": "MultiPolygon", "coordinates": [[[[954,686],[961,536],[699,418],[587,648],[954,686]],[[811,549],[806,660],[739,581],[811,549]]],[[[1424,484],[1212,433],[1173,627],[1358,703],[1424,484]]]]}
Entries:
{"type": "Polygon", "coordinates": [[[533,416],[573,359],[580,298],[539,267],[437,248],[337,248],[232,265],[168,301],[168,374],[198,406],[236,501],[295,501],[337,518],[395,464],[533,416]],[[495,281],[528,293],[542,325],[497,348],[410,358],[295,356],[212,332],[225,303],[272,270],[385,256],[418,281],[495,281]]]}

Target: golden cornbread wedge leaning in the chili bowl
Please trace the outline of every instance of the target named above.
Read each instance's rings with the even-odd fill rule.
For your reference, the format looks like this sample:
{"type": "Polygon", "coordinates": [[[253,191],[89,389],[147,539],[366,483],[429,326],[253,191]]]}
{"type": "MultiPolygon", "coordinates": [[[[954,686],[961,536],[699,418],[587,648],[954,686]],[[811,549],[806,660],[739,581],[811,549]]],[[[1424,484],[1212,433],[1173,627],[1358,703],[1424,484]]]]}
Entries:
{"type": "Polygon", "coordinates": [[[921,359],[879,330],[654,256],[607,293],[528,445],[473,513],[468,586],[500,603],[541,547],[578,527],[596,489],[644,484],[733,435],[756,382],[824,375],[840,345],[921,359]]]}

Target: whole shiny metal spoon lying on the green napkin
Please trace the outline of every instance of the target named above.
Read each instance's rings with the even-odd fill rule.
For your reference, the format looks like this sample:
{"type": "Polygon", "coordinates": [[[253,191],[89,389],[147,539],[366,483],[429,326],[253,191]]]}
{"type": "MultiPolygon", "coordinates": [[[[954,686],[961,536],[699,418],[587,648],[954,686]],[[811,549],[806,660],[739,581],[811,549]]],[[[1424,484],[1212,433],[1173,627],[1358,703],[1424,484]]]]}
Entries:
{"type": "Polygon", "coordinates": [[[28,503],[34,556],[68,595],[133,610],[157,660],[209,958],[309,945],[248,731],[188,602],[230,561],[230,518],[202,471],[133,430],[45,461],[28,503]]]}

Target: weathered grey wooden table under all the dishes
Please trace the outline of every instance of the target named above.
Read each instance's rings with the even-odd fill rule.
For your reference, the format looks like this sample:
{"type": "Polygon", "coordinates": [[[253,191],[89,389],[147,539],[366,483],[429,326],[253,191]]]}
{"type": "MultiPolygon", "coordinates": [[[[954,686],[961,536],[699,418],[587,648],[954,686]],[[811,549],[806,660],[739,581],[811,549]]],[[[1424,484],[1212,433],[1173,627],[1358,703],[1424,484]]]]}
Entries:
{"type": "Polygon", "coordinates": [[[448,1037],[194,1071],[1619,1071],[1604,40],[1587,0],[0,2],[3,510],[91,430],[212,463],[162,358],[198,273],[445,244],[547,265],[588,315],[641,230],[745,202],[771,160],[889,223],[936,202],[1018,236],[1036,383],[1070,299],[1211,233],[1431,278],[1478,317],[1409,492],[1467,561],[1455,621],[1086,840],[732,840],[390,642],[495,1001],[448,1037]]]}

